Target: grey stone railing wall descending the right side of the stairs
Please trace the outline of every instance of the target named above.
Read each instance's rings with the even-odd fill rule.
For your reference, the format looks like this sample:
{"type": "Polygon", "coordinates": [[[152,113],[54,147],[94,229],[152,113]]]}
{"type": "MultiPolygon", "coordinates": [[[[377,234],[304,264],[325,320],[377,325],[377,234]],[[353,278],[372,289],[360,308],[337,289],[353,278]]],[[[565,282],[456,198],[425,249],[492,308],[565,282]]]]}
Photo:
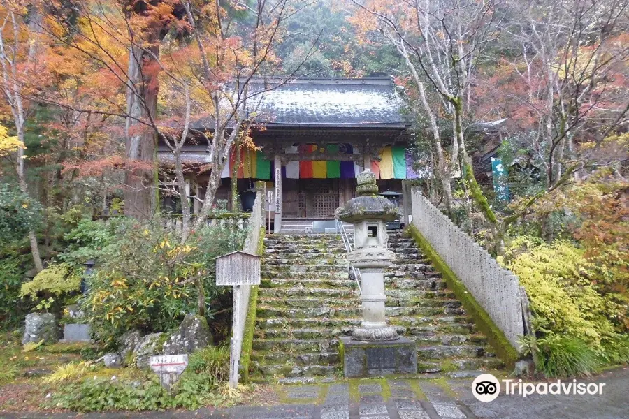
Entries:
{"type": "Polygon", "coordinates": [[[419,188],[411,191],[412,225],[516,349],[524,335],[526,293],[519,279],[444,216],[419,188]]]}

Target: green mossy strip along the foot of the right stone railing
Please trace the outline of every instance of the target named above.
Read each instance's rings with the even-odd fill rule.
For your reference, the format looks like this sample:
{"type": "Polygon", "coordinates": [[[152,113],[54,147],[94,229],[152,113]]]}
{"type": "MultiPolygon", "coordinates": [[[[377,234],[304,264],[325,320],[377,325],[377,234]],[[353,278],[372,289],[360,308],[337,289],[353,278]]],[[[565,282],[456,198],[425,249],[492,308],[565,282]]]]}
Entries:
{"type": "Polygon", "coordinates": [[[513,369],[516,361],[521,357],[503,331],[493,323],[487,311],[472,297],[472,294],[465,288],[465,285],[456,277],[454,272],[452,272],[449,266],[442,260],[431,244],[428,243],[428,240],[419,233],[419,230],[417,230],[415,226],[410,225],[405,228],[405,232],[413,237],[415,243],[417,243],[421,251],[424,252],[424,255],[431,260],[433,266],[441,273],[448,287],[454,291],[456,298],[463,304],[465,311],[474,319],[477,328],[487,337],[487,341],[489,341],[493,350],[496,351],[498,358],[503,360],[509,369],[513,369]]]}

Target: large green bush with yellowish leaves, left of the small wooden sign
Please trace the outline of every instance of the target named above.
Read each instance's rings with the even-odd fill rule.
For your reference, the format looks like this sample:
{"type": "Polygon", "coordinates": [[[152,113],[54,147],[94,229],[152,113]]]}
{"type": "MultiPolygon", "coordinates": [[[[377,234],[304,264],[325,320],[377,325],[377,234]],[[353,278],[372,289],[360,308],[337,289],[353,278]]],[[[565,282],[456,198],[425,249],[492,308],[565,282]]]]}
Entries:
{"type": "MultiPolygon", "coordinates": [[[[215,286],[214,258],[240,249],[245,232],[219,227],[194,232],[186,243],[157,219],[127,223],[101,250],[96,274],[82,300],[96,339],[113,345],[124,332],[163,332],[187,313],[220,309],[227,290],[215,286]],[[219,303],[219,307],[212,304],[219,303]]],[[[211,313],[210,313],[211,314],[211,313]]]]}

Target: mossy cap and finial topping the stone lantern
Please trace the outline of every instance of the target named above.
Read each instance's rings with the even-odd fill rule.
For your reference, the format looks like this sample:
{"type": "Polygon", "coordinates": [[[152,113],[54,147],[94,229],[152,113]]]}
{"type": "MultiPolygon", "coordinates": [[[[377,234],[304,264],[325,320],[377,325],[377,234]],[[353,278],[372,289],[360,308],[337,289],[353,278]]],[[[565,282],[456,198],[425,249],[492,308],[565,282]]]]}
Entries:
{"type": "Polygon", "coordinates": [[[356,193],[359,196],[347,201],[345,206],[336,210],[336,218],[347,223],[356,223],[363,220],[393,221],[399,218],[400,213],[390,200],[378,195],[375,174],[365,170],[356,178],[358,186],[356,193]]]}

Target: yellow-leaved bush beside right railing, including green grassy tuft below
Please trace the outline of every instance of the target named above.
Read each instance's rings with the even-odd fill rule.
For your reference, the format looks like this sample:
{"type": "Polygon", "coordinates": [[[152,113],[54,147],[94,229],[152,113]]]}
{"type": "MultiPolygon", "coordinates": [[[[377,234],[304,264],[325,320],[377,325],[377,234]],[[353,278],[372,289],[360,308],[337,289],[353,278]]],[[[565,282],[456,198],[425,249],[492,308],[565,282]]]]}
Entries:
{"type": "Polygon", "coordinates": [[[599,364],[629,360],[629,339],[612,321],[616,307],[595,285],[600,267],[584,254],[566,240],[547,244],[523,236],[512,240],[500,260],[526,289],[537,336],[528,348],[540,351],[537,367],[549,376],[588,374],[599,364]]]}

